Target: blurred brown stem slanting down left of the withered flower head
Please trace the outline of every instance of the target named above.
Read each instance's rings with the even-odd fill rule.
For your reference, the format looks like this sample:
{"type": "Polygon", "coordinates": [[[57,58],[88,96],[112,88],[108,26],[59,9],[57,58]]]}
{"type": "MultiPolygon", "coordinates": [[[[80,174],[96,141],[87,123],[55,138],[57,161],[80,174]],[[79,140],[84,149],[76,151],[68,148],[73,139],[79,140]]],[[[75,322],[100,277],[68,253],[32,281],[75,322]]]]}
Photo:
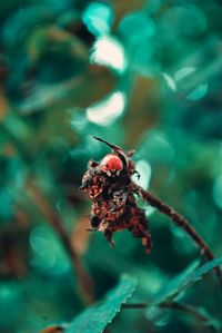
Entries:
{"type": "Polygon", "coordinates": [[[72,266],[77,273],[77,280],[80,285],[81,294],[87,304],[92,303],[93,301],[93,282],[90,276],[84,271],[78,254],[75,253],[72,244],[70,242],[70,237],[64,229],[63,223],[59,214],[53,209],[53,207],[49,204],[48,198],[31,183],[27,184],[28,189],[32,194],[32,200],[41,212],[41,214],[46,217],[46,221],[54,228],[58,233],[67,253],[71,258],[72,266]]]}

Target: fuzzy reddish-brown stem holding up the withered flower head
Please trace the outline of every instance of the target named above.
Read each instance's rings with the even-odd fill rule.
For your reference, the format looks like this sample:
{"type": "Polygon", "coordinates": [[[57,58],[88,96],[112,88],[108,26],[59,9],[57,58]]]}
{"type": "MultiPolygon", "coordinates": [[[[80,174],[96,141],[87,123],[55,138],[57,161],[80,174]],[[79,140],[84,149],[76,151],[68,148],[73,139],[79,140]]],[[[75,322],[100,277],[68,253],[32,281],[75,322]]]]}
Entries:
{"type": "MultiPolygon", "coordinates": [[[[160,198],[152,195],[151,193],[144,190],[142,187],[133,183],[135,189],[141,194],[142,198],[145,199],[151,206],[155,207],[160,213],[168,215],[172,222],[180,228],[186,232],[186,234],[194,241],[201,251],[201,254],[205,256],[206,261],[214,259],[214,255],[211,252],[208,244],[203,238],[196,233],[196,231],[190,225],[190,223],[178,212],[175,212],[171,206],[163,203],[160,198]]],[[[219,278],[220,284],[222,283],[222,272],[219,266],[214,268],[214,272],[219,278]]]]}

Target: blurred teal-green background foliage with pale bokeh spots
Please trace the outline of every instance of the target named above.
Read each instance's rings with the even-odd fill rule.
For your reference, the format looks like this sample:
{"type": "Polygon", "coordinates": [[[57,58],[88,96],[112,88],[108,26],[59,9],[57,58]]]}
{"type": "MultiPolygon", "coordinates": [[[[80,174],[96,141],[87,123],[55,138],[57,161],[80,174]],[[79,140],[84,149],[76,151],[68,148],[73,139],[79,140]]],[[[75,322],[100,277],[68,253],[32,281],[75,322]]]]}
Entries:
{"type": "MultiPolygon", "coordinates": [[[[151,207],[144,206],[154,244],[149,256],[128,232],[117,234],[115,248],[87,232],[81,177],[90,158],[108,151],[90,135],[137,149],[141,185],[184,214],[222,255],[221,10],[219,0],[1,1],[2,333],[50,325],[44,332],[61,332],[85,308],[88,317],[98,310],[104,327],[131,294],[130,282],[112,290],[123,273],[138,281],[130,302],[155,304],[169,281],[173,288],[182,276],[186,286],[184,276],[191,282],[210,268],[192,275],[201,258],[192,241],[151,207]],[[111,305],[109,296],[99,307],[84,304],[58,221],[93,281],[93,301],[112,291],[111,305]]],[[[180,301],[211,324],[151,306],[121,311],[109,332],[220,330],[222,300],[212,272],[189,284],[180,301]]]]}

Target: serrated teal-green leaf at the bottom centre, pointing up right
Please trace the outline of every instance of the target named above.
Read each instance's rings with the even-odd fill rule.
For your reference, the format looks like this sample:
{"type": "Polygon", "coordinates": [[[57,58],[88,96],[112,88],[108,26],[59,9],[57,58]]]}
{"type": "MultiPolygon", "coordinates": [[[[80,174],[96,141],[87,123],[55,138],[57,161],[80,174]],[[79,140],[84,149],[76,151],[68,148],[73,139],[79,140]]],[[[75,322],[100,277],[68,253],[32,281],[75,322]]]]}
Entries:
{"type": "Polygon", "coordinates": [[[105,300],[87,308],[77,316],[64,333],[100,333],[112,322],[121,305],[132,295],[137,285],[133,277],[123,275],[118,286],[110,291],[105,300]]]}

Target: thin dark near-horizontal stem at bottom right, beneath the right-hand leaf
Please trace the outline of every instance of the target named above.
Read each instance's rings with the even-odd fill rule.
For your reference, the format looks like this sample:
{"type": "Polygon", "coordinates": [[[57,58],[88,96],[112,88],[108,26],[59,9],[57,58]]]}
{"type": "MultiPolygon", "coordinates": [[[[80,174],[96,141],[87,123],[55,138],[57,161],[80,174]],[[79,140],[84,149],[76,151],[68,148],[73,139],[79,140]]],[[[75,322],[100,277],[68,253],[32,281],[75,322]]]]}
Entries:
{"type": "MultiPolygon", "coordinates": [[[[127,303],[122,304],[122,308],[130,310],[130,308],[147,308],[151,304],[149,303],[127,303]]],[[[169,310],[176,310],[181,311],[192,317],[194,317],[196,321],[205,324],[211,329],[211,331],[215,332],[215,327],[210,324],[210,319],[208,315],[203,314],[201,311],[196,310],[194,306],[189,305],[189,304],[183,304],[183,303],[178,303],[178,302],[163,302],[158,304],[159,307],[162,308],[169,308],[169,310]]]]}

